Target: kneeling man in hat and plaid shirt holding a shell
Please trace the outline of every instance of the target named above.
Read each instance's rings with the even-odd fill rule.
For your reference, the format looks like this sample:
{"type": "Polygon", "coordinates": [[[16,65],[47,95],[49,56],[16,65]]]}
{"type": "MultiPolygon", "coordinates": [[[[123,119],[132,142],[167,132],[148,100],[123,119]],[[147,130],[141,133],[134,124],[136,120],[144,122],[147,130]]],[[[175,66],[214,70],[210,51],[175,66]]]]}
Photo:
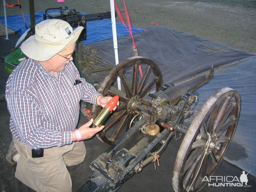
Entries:
{"type": "Polygon", "coordinates": [[[27,56],[6,83],[13,144],[6,159],[17,162],[15,176],[36,191],[70,192],[66,166],[84,160],[84,142],[104,126],[89,128],[92,119],[76,129],[79,102],[104,107],[103,97],[80,77],[72,62],[82,27],[73,31],[63,20],[44,20],[35,35],[21,45],[27,56]]]}

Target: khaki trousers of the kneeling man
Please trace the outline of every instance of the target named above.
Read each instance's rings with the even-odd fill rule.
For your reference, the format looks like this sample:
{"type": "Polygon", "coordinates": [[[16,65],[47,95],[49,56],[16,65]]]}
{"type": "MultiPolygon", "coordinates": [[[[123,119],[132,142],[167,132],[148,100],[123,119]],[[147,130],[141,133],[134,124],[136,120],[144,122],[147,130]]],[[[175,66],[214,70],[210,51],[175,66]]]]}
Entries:
{"type": "Polygon", "coordinates": [[[13,136],[20,154],[15,177],[38,192],[71,192],[72,181],[66,166],[81,163],[86,155],[84,142],[44,149],[44,156],[32,158],[31,148],[13,136]]]}

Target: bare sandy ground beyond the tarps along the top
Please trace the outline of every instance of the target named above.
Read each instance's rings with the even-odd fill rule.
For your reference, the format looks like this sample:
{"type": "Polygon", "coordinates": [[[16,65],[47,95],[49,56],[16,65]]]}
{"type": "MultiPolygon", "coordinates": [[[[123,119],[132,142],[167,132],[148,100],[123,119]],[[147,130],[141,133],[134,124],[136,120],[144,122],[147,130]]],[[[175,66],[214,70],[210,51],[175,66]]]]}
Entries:
{"type": "MultiPolygon", "coordinates": [[[[8,4],[16,0],[7,0],[8,4]]],[[[24,14],[29,13],[28,0],[20,0],[24,14]]],[[[124,18],[122,0],[116,0],[124,18]]],[[[68,6],[85,13],[110,11],[109,0],[35,0],[35,12],[46,8],[68,6]]],[[[256,0],[126,0],[131,24],[138,27],[167,26],[227,44],[233,48],[256,52],[256,0]]],[[[18,7],[6,8],[7,15],[21,14],[18,7]]],[[[0,16],[4,16],[0,4],[0,16]]],[[[120,19],[117,17],[117,21],[120,19]]]]}

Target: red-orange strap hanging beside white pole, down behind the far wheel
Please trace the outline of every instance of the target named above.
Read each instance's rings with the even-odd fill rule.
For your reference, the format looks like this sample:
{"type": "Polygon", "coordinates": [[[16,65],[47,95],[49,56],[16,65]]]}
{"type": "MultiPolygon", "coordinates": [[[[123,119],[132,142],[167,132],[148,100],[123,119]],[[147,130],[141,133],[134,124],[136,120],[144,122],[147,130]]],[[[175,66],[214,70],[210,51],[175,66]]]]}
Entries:
{"type": "MultiPolygon", "coordinates": [[[[124,2],[124,0],[123,0],[124,2]]],[[[134,37],[133,37],[133,34],[132,34],[132,25],[131,25],[131,22],[130,22],[130,18],[129,18],[129,14],[128,14],[128,10],[127,10],[127,7],[126,7],[126,4],[124,2],[124,10],[125,10],[125,14],[126,14],[126,20],[127,20],[127,23],[128,23],[128,27],[129,29],[127,28],[125,22],[124,22],[124,19],[122,17],[122,14],[116,4],[116,1],[114,1],[114,4],[115,4],[115,7],[116,7],[116,11],[117,11],[117,14],[122,22],[122,24],[124,25],[124,27],[128,30],[128,32],[130,33],[131,37],[132,37],[132,45],[133,45],[133,50],[134,50],[134,53],[136,54],[136,56],[138,56],[138,50],[137,50],[137,46],[135,44],[135,41],[134,41],[134,37]]],[[[142,68],[141,66],[139,65],[139,70],[140,70],[140,76],[142,76],[142,68]]]]}

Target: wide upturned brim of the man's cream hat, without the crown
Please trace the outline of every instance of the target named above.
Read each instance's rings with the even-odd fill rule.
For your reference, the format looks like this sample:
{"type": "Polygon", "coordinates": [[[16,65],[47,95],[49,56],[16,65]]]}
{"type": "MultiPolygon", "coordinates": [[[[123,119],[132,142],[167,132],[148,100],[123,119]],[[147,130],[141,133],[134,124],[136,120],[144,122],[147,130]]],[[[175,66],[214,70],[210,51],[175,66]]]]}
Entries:
{"type": "Polygon", "coordinates": [[[57,53],[65,50],[70,45],[74,44],[76,40],[78,40],[78,37],[80,36],[83,29],[84,28],[82,26],[79,26],[78,28],[76,28],[74,30],[74,36],[70,38],[70,41],[68,41],[66,45],[63,45],[63,46],[59,46],[59,47],[52,46],[50,48],[45,48],[35,41],[35,36],[33,35],[29,37],[26,41],[24,41],[21,44],[20,48],[22,52],[29,58],[32,58],[37,61],[46,61],[52,58],[57,53]]]}

